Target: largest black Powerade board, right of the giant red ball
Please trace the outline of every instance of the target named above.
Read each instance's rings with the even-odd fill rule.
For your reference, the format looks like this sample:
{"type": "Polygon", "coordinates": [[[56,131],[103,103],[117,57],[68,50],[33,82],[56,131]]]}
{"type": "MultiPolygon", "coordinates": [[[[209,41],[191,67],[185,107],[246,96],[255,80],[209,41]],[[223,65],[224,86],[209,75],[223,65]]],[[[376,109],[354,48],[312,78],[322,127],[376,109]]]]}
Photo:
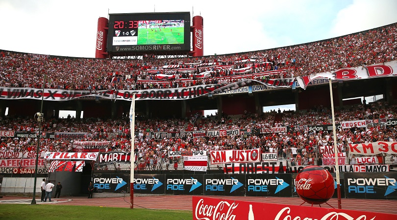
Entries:
{"type": "Polygon", "coordinates": [[[345,197],[397,199],[397,173],[345,173],[345,197]]]}

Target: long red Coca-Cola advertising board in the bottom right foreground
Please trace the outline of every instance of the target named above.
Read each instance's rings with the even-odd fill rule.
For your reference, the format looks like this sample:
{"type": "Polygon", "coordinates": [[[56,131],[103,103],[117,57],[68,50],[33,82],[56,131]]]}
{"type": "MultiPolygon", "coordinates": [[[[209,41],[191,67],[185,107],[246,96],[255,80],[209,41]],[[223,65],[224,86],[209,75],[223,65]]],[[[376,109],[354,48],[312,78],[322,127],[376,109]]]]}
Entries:
{"type": "Polygon", "coordinates": [[[193,220],[395,220],[397,215],[348,209],[192,197],[193,220]]]}

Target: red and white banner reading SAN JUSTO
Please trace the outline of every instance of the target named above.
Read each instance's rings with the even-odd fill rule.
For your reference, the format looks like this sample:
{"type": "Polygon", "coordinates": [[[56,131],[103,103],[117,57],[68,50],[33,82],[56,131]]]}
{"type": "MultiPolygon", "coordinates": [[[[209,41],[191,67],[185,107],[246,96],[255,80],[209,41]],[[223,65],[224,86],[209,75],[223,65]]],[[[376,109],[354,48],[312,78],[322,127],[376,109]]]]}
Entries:
{"type": "Polygon", "coordinates": [[[211,164],[259,162],[261,149],[210,151],[211,164]]]}

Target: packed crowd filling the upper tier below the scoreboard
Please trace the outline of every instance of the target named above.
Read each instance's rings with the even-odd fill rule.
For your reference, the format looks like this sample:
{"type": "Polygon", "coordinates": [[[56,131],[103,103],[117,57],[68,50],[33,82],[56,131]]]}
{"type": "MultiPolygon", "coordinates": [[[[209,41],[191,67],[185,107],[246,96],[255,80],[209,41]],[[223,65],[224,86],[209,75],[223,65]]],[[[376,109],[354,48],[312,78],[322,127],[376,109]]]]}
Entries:
{"type": "Polygon", "coordinates": [[[397,23],[333,39],[232,55],[155,59],[88,59],[0,51],[2,87],[70,90],[176,88],[243,78],[294,78],[397,57],[397,23]],[[239,77],[234,77],[238,75],[239,77]]]}

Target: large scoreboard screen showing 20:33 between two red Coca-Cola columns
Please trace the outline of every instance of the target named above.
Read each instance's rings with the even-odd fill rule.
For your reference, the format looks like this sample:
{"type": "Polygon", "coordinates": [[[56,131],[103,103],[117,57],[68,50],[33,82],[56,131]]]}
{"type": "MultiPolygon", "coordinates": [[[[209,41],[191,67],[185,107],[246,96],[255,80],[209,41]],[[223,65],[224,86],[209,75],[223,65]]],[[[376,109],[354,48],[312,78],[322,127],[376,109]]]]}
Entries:
{"type": "Polygon", "coordinates": [[[190,12],[109,14],[108,52],[190,50],[190,12]]]}

